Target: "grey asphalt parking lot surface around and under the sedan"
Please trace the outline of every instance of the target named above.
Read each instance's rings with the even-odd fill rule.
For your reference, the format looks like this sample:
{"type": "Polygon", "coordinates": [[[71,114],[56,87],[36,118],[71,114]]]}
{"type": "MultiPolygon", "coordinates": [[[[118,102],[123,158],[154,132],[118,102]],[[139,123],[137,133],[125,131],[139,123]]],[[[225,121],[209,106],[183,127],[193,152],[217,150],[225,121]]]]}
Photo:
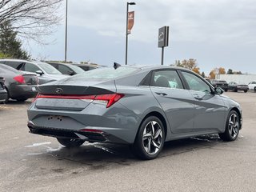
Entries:
{"type": "Polygon", "coordinates": [[[68,150],[28,133],[30,102],[0,105],[0,191],[256,191],[256,93],[225,94],[242,105],[235,142],[218,135],[167,142],[152,161],[127,146],[68,150]]]}

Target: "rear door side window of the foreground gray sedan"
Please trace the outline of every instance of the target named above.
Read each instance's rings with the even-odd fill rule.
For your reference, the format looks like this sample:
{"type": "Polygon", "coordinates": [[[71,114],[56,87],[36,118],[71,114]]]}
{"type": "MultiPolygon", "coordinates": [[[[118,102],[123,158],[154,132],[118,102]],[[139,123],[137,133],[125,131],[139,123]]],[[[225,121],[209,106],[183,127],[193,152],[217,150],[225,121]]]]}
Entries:
{"type": "Polygon", "coordinates": [[[151,86],[170,87],[174,89],[184,89],[182,81],[176,70],[157,70],[153,72],[151,86]]]}

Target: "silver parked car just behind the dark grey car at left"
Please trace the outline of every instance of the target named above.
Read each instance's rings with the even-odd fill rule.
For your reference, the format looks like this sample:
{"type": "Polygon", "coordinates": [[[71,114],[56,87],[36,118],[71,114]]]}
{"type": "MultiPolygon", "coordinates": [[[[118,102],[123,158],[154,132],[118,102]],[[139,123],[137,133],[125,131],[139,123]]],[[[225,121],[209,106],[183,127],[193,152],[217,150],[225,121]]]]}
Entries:
{"type": "Polygon", "coordinates": [[[28,71],[38,74],[39,84],[67,78],[67,75],[62,74],[46,62],[26,61],[19,59],[0,59],[0,63],[11,66],[16,70],[28,71]]]}

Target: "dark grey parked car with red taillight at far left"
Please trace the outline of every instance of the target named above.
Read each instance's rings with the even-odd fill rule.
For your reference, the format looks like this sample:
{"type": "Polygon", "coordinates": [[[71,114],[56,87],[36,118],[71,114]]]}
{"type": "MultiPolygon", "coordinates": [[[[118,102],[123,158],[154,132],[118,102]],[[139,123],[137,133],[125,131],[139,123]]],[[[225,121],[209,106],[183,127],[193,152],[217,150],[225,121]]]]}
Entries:
{"type": "Polygon", "coordinates": [[[7,97],[5,102],[8,102],[9,98],[25,101],[28,98],[34,98],[38,94],[36,90],[38,77],[36,74],[15,70],[10,66],[0,64],[0,76],[6,80],[7,97]]]}

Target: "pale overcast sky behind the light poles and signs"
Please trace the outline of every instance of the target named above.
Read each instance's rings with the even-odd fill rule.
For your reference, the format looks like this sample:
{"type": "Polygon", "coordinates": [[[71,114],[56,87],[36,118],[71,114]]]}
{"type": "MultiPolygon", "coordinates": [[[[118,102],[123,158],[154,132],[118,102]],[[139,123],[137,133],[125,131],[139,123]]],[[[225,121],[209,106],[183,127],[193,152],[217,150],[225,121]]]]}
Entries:
{"type": "MultiPolygon", "coordinates": [[[[158,28],[170,26],[165,65],[195,58],[200,71],[214,67],[256,74],[255,0],[137,0],[128,63],[160,65],[158,28]]],[[[65,3],[62,11],[65,13],[65,3]]],[[[126,1],[69,0],[67,59],[101,65],[125,63],[126,1]]],[[[65,15],[63,14],[63,17],[65,15]]],[[[33,58],[64,60],[65,20],[47,41],[30,42],[33,58]],[[54,41],[53,41],[54,40],[54,41]]]]}

